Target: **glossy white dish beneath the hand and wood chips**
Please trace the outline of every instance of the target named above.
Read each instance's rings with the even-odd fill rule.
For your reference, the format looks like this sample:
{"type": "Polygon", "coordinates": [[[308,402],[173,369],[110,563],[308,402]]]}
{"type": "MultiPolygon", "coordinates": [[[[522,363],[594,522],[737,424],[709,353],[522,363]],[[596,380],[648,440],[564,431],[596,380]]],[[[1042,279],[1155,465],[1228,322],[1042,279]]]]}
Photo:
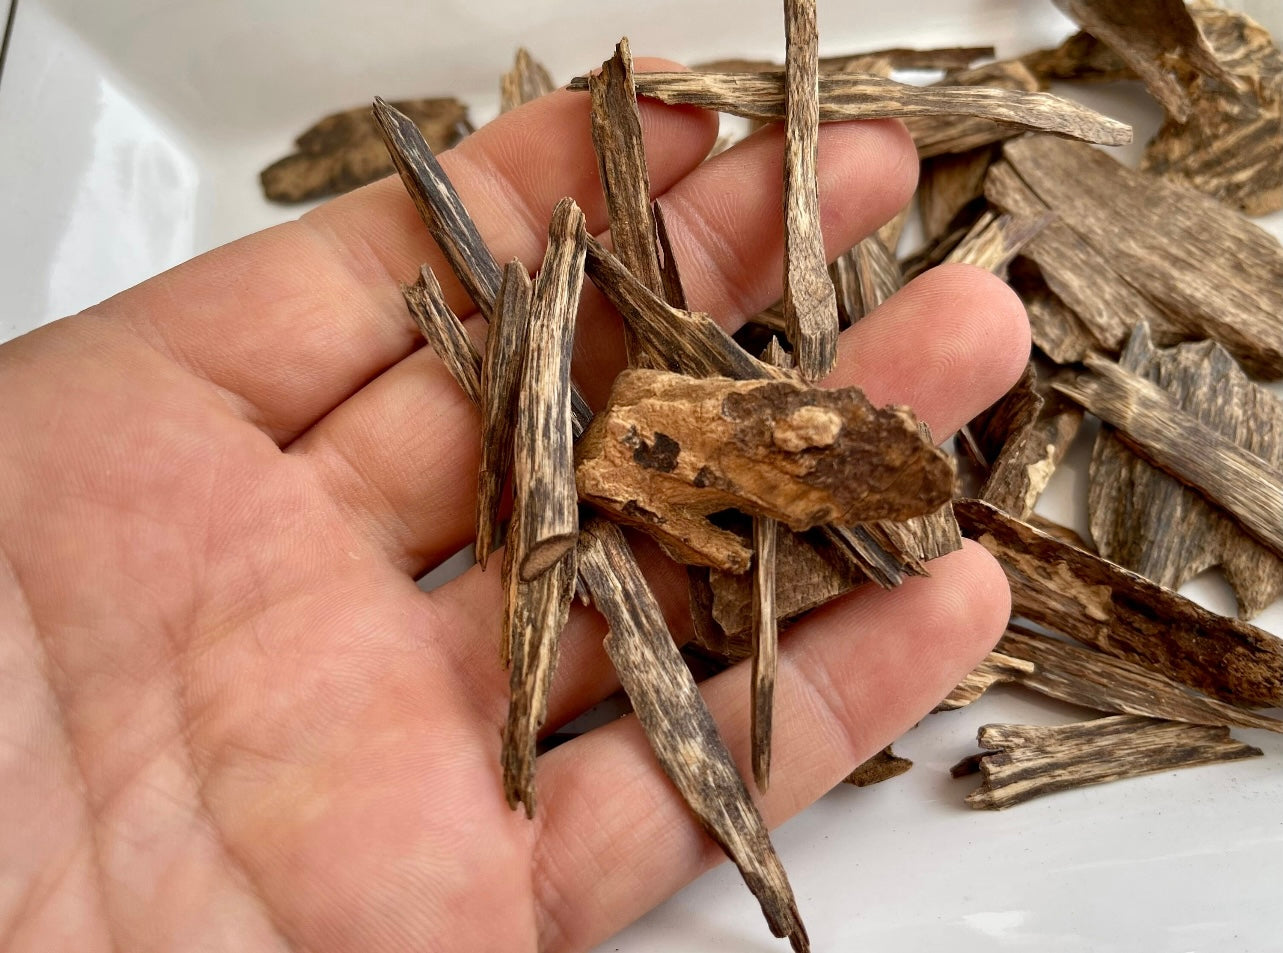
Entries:
{"type": "MultiPolygon", "coordinates": [[[[1257,0],[1283,31],[1283,3],[1257,0]]],[[[192,254],[298,214],[264,203],[258,171],[327,112],[375,94],[455,94],[476,122],[525,44],[565,81],[629,35],[638,55],[783,50],[775,0],[21,0],[0,78],[0,340],[87,307],[192,254]]],[[[821,0],[824,53],[887,45],[1051,45],[1047,0],[821,0]]],[[[1159,117],[1126,86],[1092,105],[1159,117]]],[[[1283,232],[1283,217],[1269,222],[1283,232]]],[[[1283,319],[1283,316],[1280,316],[1283,319]]],[[[1089,448],[1057,473],[1048,516],[1085,528],[1089,448]]],[[[1216,577],[1189,590],[1221,612],[1216,577]]],[[[1275,605],[1260,625],[1283,632],[1275,605]]],[[[1283,744],[1265,758],[1049,797],[1006,813],[962,803],[951,763],[992,721],[1084,713],[999,690],[929,717],[897,749],[916,767],[847,786],[776,844],[817,950],[1283,949],[1283,744]]],[[[600,950],[780,950],[722,866],[600,950]]]]}

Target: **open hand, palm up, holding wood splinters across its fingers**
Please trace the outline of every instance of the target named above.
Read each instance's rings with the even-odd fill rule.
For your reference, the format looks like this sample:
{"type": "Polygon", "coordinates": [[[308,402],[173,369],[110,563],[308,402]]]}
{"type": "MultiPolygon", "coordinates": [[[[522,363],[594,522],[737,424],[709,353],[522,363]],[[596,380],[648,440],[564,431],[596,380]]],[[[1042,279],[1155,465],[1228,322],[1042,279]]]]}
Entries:
{"type": "MultiPolygon", "coordinates": [[[[699,164],[711,117],[642,113],[692,305],[738,325],[779,296],[780,131],[699,164]]],[[[908,199],[916,156],[896,123],[826,126],[820,149],[835,254],[908,199]]],[[[441,164],[499,260],[540,260],[563,195],[606,227],[586,95],[509,113],[441,164]]],[[[504,802],[498,561],[414,585],[470,541],[479,431],[398,292],[423,260],[470,313],[384,181],[0,348],[10,949],[584,949],[721,858],[633,718],[540,758],[532,822],[504,802]]],[[[946,267],[847,331],[829,384],[943,436],[1028,345],[1001,282],[946,267]]],[[[576,353],[599,401],[622,346],[590,290],[576,353]]],[[[683,637],[684,575],[649,563],[683,637]]],[[[767,822],[997,639],[992,559],[967,545],[931,573],[783,639],[767,822]]],[[[545,731],[616,690],[603,631],[572,611],[545,731]]],[[[747,764],[745,667],[703,690],[747,764]]]]}

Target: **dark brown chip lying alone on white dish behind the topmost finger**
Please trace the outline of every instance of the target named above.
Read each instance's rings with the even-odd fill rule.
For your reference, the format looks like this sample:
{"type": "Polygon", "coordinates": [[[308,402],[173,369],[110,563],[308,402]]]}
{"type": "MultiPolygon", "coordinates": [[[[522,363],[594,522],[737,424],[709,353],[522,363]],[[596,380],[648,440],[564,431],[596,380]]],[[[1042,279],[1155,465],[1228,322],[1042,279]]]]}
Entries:
{"type": "MultiPolygon", "coordinates": [[[[407,114],[434,153],[455,145],[472,131],[468,110],[457,99],[412,99],[394,104],[407,114]]],[[[263,169],[259,180],[271,201],[308,201],[359,189],[394,172],[366,108],[327,115],[295,142],[298,151],[263,169]]]]}

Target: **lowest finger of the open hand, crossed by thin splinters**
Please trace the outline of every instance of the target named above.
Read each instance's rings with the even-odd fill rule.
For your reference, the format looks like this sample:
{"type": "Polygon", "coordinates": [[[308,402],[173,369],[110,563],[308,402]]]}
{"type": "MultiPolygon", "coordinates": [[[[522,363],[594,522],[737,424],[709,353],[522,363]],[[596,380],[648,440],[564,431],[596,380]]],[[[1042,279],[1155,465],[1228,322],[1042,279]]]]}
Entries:
{"type": "MultiPolygon", "coordinates": [[[[848,596],[795,626],[780,646],[767,823],[912,727],[984,657],[1008,609],[1001,568],[967,544],[929,578],[848,596]]],[[[744,776],[748,676],[736,666],[702,689],[744,776]]],[[[591,947],[721,859],[634,717],[554,749],[539,772],[541,949],[591,947]]]]}

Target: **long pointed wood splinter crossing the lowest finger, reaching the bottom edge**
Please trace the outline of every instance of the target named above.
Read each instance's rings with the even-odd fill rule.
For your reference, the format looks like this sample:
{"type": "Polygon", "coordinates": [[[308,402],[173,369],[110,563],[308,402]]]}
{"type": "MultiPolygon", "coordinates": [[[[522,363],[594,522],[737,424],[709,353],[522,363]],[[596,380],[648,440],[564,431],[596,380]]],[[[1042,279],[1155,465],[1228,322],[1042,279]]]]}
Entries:
{"type": "Polygon", "coordinates": [[[681,661],[663,613],[618,527],[595,518],[580,536],[580,572],[606,617],[606,652],[663,772],[739,867],[776,936],[810,949],[788,876],[762,816],[681,661]]]}

